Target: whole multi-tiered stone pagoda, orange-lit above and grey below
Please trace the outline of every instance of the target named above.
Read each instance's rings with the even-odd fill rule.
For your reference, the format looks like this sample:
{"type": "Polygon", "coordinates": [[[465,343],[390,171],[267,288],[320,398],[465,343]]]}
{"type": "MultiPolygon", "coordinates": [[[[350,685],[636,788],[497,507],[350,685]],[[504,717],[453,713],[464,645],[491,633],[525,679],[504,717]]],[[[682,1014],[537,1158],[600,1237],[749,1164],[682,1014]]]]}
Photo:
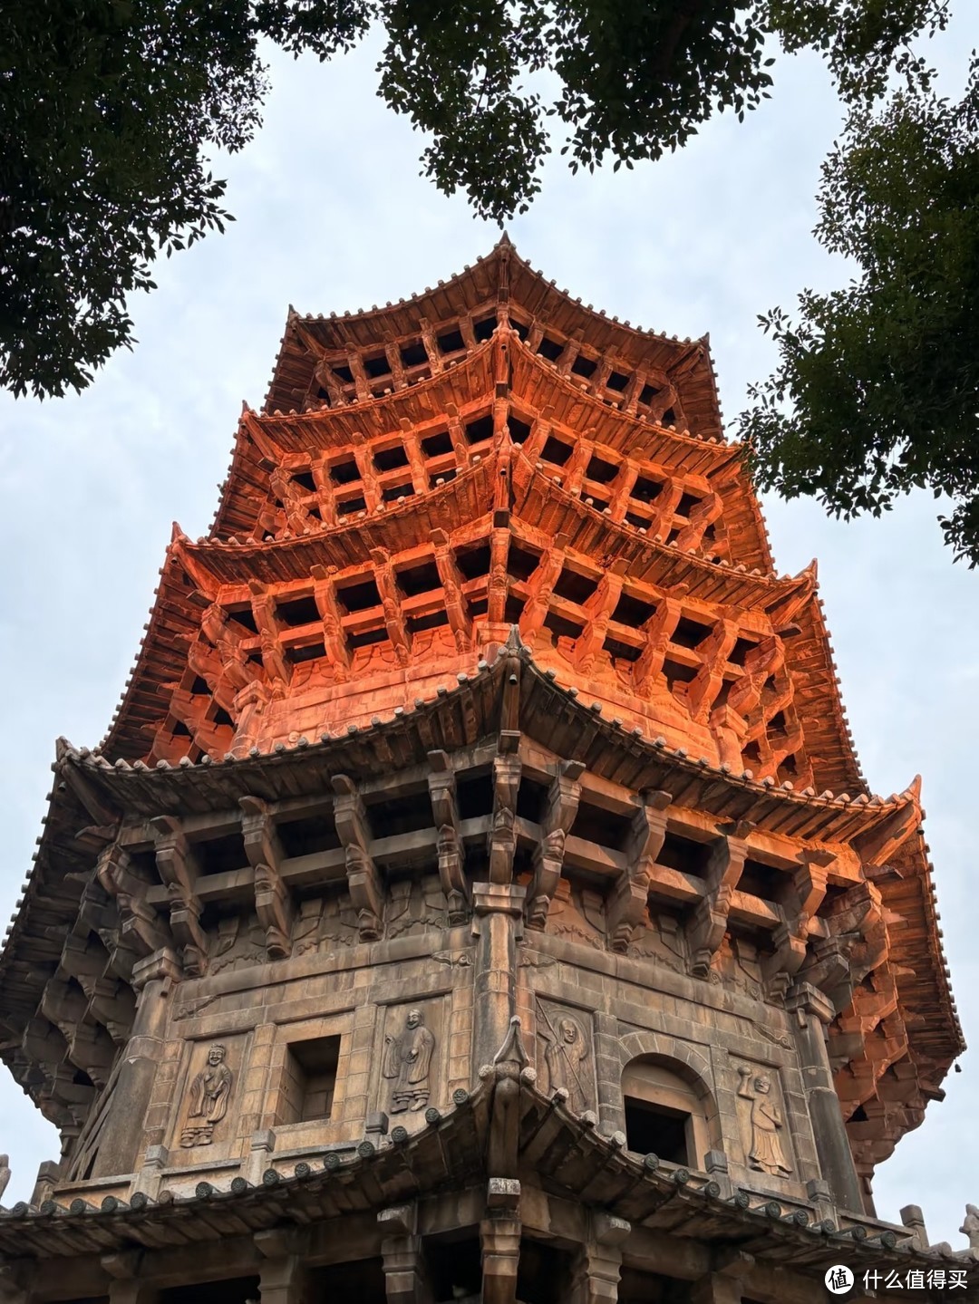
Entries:
{"type": "Polygon", "coordinates": [[[975,1279],[871,1196],[963,1048],[918,781],[864,782],[705,339],[506,239],[291,312],[107,738],[52,768],[0,1054],[63,1149],[0,1300],[975,1279]]]}

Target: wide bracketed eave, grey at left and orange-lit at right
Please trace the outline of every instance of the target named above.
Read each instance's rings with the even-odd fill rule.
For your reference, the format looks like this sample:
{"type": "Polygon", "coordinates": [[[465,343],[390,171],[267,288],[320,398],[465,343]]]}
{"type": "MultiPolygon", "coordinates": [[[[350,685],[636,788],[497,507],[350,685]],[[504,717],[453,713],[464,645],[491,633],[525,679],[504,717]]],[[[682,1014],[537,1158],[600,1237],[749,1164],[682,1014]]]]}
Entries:
{"type": "MultiPolygon", "coordinates": [[[[730,983],[748,998],[746,1009],[759,999],[778,1005],[790,979],[825,987],[837,1008],[829,1035],[837,1094],[843,1115],[854,1119],[859,1166],[871,1172],[897,1137],[920,1123],[962,1048],[931,871],[915,833],[916,788],[886,801],[816,798],[734,776],[606,719],[600,703],[583,703],[574,686],[538,669],[516,631],[491,665],[439,685],[387,722],[351,724],[317,742],[299,738],[267,754],[253,748],[240,759],[205,756],[194,764],[185,756],[153,767],[111,763],[63,743],[40,866],[26,884],[0,970],[8,1064],[61,1125],[69,1116],[87,1118],[112,1045],[128,1035],[141,956],[171,945],[183,952],[188,973],[220,971],[239,926],[224,941],[210,928],[218,918],[233,921],[249,902],[256,908],[270,874],[283,901],[314,884],[339,891],[348,883],[348,835],[338,795],[327,794],[335,789],[345,801],[349,782],[365,803],[360,837],[378,876],[374,900],[383,900],[392,874],[426,863],[439,867],[447,893],[467,897],[467,884],[489,872],[495,814],[508,799],[516,815],[511,872],[531,892],[531,927],[546,934],[554,927],[555,885],[537,891],[534,849],[557,818],[548,794],[568,765],[579,775],[579,797],[563,816],[568,832],[558,874],[588,884],[593,905],[558,932],[588,948],[604,938],[602,947],[640,965],[730,983]],[[510,747],[506,738],[512,748],[501,755],[510,747]],[[338,775],[353,780],[338,786],[338,775]],[[439,803],[446,786],[465,793],[452,798],[447,816],[439,803]],[[274,858],[270,844],[249,844],[253,807],[276,829],[274,858]],[[665,838],[654,857],[636,859],[628,831],[644,807],[654,808],[665,838]],[[86,870],[115,829],[116,811],[128,812],[121,844],[100,853],[94,872],[86,870]],[[175,811],[184,818],[168,814],[175,811]],[[447,868],[446,818],[459,829],[458,882],[447,868]],[[190,845],[175,879],[159,848],[177,833],[190,845]],[[735,865],[720,876],[707,857],[718,833],[735,865]],[[123,878],[115,868],[120,854],[129,865],[123,878]],[[189,895],[180,888],[186,875],[189,895]],[[85,996],[80,991],[64,1005],[61,994],[73,981],[85,996]],[[78,1042],[80,1026],[89,1041],[78,1042]],[[64,1060],[83,1068],[87,1088],[65,1084],[64,1060]]],[[[296,945],[302,953],[295,934],[284,940],[293,917],[291,906],[282,915],[259,911],[265,940],[248,943],[249,955],[280,958],[296,945]]],[[[361,926],[360,936],[374,928],[375,922],[361,926]]],[[[355,915],[338,936],[353,944],[357,932],[355,915]]],[[[229,958],[240,961],[236,951],[229,958]]]]}

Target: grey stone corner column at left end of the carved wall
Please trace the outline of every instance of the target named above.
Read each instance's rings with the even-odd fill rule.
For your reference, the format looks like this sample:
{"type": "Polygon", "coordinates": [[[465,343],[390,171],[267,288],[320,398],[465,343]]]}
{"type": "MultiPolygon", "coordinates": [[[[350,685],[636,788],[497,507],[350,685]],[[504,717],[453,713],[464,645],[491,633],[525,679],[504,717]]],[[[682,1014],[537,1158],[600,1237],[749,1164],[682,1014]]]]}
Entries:
{"type": "Polygon", "coordinates": [[[163,1054],[167,998],[180,978],[180,961],[169,947],[154,951],[133,966],[136,1018],[112,1089],[93,1176],[133,1172],[139,1159],[143,1120],[150,1106],[156,1068],[163,1054]]]}

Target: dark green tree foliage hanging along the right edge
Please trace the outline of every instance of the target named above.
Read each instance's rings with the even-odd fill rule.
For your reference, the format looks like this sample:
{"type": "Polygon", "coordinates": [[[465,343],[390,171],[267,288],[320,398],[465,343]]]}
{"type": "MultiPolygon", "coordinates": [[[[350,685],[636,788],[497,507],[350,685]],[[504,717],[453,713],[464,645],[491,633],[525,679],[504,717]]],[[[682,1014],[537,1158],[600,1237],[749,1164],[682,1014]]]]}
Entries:
{"type": "Polygon", "coordinates": [[[756,477],[846,518],[911,489],[953,502],[946,542],[979,562],[979,61],[963,99],[922,64],[851,113],[823,167],[816,235],[856,275],[761,318],[778,366],[742,417],[756,477]]]}

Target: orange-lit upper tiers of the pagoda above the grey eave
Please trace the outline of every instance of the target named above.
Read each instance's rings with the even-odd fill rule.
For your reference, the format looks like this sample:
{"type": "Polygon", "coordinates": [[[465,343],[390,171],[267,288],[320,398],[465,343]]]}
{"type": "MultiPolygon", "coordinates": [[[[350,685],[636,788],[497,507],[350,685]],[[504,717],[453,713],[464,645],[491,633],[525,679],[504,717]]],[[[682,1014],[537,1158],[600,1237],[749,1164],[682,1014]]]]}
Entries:
{"type": "MultiPolygon", "coordinates": [[[[175,533],[107,755],[241,755],[387,719],[518,625],[542,668],[628,728],[734,773],[864,792],[815,570],[772,570],[738,449],[714,433],[703,343],[596,317],[506,245],[434,295],[338,322],[360,381],[242,413],[210,537],[175,533]],[[554,357],[548,313],[566,336],[554,357]],[[417,374],[390,344],[411,321],[417,374]],[[379,394],[362,383],[368,326],[388,340],[379,394]],[[576,374],[600,346],[601,368],[576,374]],[[650,376],[669,411],[643,403],[650,376]]],[[[322,378],[330,347],[291,316],[272,394],[300,355],[322,378]]]]}

